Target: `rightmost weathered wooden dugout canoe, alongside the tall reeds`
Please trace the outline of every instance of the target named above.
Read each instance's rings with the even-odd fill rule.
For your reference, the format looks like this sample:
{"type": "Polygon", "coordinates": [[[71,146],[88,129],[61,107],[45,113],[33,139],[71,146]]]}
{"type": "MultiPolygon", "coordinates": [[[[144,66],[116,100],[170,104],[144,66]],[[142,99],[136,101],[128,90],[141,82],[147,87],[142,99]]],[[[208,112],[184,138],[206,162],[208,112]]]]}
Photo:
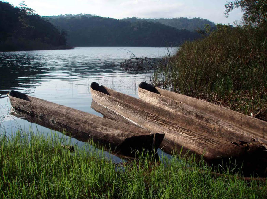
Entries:
{"type": "Polygon", "coordinates": [[[146,82],[139,85],[138,96],[146,102],[174,113],[187,115],[237,133],[252,134],[254,138],[266,136],[267,122],[204,100],[166,91],[146,82]]]}

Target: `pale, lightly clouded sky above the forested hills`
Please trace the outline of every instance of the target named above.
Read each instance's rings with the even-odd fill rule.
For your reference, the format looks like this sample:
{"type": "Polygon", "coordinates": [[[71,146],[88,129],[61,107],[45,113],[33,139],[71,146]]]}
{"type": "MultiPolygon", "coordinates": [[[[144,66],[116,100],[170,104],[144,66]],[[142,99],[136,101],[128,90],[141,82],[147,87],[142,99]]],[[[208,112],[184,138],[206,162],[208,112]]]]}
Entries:
{"type": "MultiPolygon", "coordinates": [[[[19,6],[22,0],[5,0],[19,6]]],[[[233,10],[226,18],[225,0],[24,0],[27,7],[41,16],[60,14],[93,14],[101,17],[122,19],[201,17],[215,23],[240,22],[242,12],[233,10]]]]}

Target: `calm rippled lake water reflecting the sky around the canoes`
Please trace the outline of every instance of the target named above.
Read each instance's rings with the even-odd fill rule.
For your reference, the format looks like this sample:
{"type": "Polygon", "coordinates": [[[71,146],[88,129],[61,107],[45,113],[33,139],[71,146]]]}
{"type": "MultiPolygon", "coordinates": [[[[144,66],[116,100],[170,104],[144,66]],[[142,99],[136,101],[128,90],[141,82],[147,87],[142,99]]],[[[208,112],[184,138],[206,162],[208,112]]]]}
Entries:
{"type": "MultiPolygon", "coordinates": [[[[171,49],[171,54],[177,49],[171,49]]],[[[17,118],[10,113],[7,92],[16,90],[71,108],[102,116],[90,106],[90,84],[96,81],[124,94],[138,97],[141,81],[149,82],[153,70],[132,74],[120,62],[133,57],[161,58],[165,48],[154,47],[76,47],[71,50],[0,52],[0,133],[18,129],[50,133],[50,129],[17,118]],[[127,50],[125,50],[127,49],[127,50]]],[[[59,136],[63,136],[57,132],[59,136]]],[[[79,146],[74,138],[71,142],[79,146]]]]}

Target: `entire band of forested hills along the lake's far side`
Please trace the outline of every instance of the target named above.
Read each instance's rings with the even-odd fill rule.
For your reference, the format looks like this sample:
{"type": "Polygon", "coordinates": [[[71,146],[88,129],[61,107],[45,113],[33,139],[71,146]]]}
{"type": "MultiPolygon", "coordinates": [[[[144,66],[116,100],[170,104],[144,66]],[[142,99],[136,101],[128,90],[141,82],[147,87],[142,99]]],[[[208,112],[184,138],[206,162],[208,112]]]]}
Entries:
{"type": "Polygon", "coordinates": [[[0,51],[68,46],[180,46],[201,37],[207,19],[112,19],[90,14],[41,17],[24,2],[0,1],[0,51]],[[188,29],[188,30],[187,30],[188,29]],[[67,46],[67,45],[68,46],[67,46]]]}

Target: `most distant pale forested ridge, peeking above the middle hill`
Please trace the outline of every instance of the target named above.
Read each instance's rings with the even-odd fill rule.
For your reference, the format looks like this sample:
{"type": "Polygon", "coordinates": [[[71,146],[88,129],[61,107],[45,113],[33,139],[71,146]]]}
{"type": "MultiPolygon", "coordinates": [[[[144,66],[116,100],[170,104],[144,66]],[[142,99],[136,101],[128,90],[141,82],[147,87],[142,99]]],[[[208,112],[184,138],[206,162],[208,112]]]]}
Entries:
{"type": "Polygon", "coordinates": [[[202,19],[202,18],[191,18],[188,19],[187,17],[179,17],[179,18],[159,18],[159,19],[140,19],[137,17],[131,17],[131,18],[124,18],[122,20],[130,21],[130,22],[137,22],[137,21],[149,21],[149,22],[159,22],[161,24],[175,27],[177,29],[187,29],[190,31],[195,30],[203,30],[205,28],[205,25],[208,24],[211,27],[215,27],[215,23],[209,21],[208,19],[202,19]]]}

